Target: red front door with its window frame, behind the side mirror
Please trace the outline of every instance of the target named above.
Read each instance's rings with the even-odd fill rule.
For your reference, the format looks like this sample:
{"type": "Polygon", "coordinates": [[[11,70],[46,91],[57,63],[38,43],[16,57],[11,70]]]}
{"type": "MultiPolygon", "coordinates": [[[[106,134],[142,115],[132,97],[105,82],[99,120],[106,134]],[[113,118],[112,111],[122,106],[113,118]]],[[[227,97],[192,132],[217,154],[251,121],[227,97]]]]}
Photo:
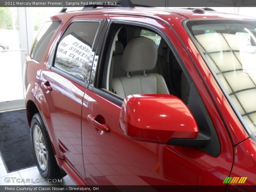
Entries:
{"type": "MultiPolygon", "coordinates": [[[[177,23],[174,23],[177,25],[183,20],[175,14],[168,15],[168,18],[170,22],[177,20],[177,23]]],[[[229,175],[232,167],[232,143],[210,95],[179,38],[167,24],[152,18],[109,15],[108,19],[111,20],[110,27],[115,22],[119,24],[124,22],[127,25],[150,28],[162,34],[182,66],[183,72],[190,76],[195,84],[194,99],[197,106],[190,106],[190,110],[198,124],[203,118],[209,123],[216,136],[218,135],[218,139],[211,143],[211,149],[208,150],[127,138],[119,128],[123,100],[99,87],[100,72],[106,70],[104,65],[108,62],[101,49],[97,49],[96,56],[100,59],[93,62],[91,82],[84,94],[82,107],[82,145],[88,184],[222,184],[223,178],[229,175]],[[199,92],[203,93],[204,97],[201,98],[199,92]],[[204,104],[205,102],[207,105],[204,104]],[[217,154],[212,153],[214,148],[219,148],[217,154]]],[[[109,33],[106,34],[108,35],[109,33]]],[[[107,48],[107,46],[109,45],[105,44],[103,47],[107,48]]]]}

